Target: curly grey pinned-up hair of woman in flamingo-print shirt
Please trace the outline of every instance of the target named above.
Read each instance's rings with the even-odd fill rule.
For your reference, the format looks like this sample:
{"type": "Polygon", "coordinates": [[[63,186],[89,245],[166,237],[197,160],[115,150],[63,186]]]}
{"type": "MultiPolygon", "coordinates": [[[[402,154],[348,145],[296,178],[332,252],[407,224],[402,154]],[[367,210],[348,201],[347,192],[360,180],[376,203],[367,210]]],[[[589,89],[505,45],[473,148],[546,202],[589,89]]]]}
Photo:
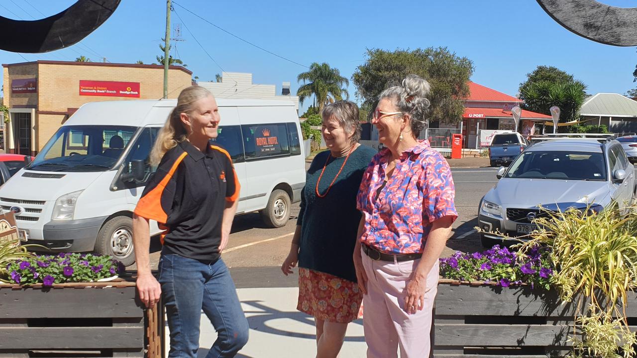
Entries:
{"type": "Polygon", "coordinates": [[[428,124],[427,113],[430,103],[427,95],[430,90],[431,85],[424,78],[407,75],[400,86],[383,90],[378,99],[391,98],[399,111],[411,115],[412,134],[418,138],[428,124]]]}

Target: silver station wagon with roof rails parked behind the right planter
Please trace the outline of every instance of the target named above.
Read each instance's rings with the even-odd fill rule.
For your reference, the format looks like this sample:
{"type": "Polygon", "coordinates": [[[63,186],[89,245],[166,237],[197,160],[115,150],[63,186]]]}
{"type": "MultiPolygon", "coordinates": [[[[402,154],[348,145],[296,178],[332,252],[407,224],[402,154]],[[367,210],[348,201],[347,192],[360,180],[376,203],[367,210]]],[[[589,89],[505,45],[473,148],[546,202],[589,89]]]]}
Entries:
{"type": "MultiPolygon", "coordinates": [[[[615,140],[548,140],[526,148],[509,168],[499,168],[496,186],[480,200],[478,226],[510,237],[536,226],[533,219],[550,210],[602,211],[635,201],[634,167],[615,140]]],[[[502,243],[503,236],[480,233],[482,245],[502,243]]],[[[524,240],[524,239],[523,239],[524,240]]]]}

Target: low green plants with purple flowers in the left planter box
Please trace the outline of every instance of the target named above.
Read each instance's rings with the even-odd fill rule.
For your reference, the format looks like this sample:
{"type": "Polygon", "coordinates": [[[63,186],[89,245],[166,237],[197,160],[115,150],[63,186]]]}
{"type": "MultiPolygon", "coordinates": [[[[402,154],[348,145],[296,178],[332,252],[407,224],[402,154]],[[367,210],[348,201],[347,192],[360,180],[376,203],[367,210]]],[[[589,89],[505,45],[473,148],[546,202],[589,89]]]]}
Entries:
{"type": "Polygon", "coordinates": [[[50,286],[53,283],[92,282],[109,278],[124,271],[124,266],[108,255],[59,254],[17,259],[9,264],[7,271],[13,283],[43,283],[50,286]]]}

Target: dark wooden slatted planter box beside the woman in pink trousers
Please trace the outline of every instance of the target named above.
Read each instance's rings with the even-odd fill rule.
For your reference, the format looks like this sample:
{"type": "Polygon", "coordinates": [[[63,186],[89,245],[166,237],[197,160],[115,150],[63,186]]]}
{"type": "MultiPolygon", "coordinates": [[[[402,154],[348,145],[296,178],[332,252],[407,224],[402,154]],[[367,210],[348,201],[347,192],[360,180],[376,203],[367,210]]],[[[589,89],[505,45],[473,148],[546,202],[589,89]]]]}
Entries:
{"type": "MultiPolygon", "coordinates": [[[[434,308],[434,357],[547,357],[570,351],[576,301],[562,304],[555,290],[497,287],[440,280],[434,308]]],[[[637,294],[626,307],[637,317],[637,294]]]]}

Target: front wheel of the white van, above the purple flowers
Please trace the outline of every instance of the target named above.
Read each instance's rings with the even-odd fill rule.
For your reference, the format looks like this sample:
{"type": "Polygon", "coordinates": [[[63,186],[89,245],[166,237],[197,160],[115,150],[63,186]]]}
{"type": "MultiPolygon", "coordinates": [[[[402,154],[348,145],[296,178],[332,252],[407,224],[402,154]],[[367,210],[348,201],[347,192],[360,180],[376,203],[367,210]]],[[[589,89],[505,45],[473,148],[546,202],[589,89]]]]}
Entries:
{"type": "Polygon", "coordinates": [[[132,218],[121,216],[108,220],[97,234],[95,243],[97,254],[111,255],[124,266],[135,262],[132,248],[132,218]]]}

